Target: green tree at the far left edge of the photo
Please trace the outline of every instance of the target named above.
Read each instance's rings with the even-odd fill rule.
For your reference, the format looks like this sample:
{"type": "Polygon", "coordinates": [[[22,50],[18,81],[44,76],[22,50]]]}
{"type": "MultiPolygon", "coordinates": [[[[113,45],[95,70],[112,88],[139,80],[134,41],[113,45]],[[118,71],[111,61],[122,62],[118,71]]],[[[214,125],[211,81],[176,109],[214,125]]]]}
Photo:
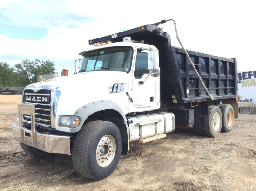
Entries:
{"type": "Polygon", "coordinates": [[[0,85],[17,86],[19,85],[18,75],[14,67],[10,67],[6,62],[0,62],[0,85]]]}

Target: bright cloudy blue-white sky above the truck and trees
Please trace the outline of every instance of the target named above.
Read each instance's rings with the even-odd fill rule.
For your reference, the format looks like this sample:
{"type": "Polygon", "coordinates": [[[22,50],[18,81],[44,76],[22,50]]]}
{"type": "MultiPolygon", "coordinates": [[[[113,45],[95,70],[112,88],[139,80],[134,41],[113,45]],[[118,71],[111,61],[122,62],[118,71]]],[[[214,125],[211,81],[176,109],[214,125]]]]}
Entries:
{"type": "MultiPolygon", "coordinates": [[[[255,18],[251,0],[0,0],[0,61],[50,60],[60,76],[88,40],[174,19],[186,49],[236,57],[238,71],[253,71],[255,18]]],[[[172,22],[159,26],[181,47],[172,22]]]]}

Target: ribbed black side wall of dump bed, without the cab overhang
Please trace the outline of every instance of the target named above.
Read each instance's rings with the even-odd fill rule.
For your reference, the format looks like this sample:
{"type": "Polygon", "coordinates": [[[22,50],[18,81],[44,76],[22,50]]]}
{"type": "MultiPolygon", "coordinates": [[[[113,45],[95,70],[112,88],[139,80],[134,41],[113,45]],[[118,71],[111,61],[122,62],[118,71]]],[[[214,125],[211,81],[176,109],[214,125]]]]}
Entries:
{"type": "MultiPolygon", "coordinates": [[[[208,94],[181,48],[159,48],[162,102],[209,101],[208,94]]],[[[187,51],[214,100],[236,98],[237,62],[228,59],[187,51]]]]}

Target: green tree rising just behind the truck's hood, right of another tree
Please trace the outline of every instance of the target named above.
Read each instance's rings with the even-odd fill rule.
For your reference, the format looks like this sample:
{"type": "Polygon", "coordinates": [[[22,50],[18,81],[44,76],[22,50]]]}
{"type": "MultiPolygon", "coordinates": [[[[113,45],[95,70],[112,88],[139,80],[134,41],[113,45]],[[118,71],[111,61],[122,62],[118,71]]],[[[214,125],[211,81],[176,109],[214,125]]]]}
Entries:
{"type": "Polygon", "coordinates": [[[38,75],[55,74],[54,63],[47,61],[40,61],[35,59],[22,60],[21,63],[15,64],[19,79],[22,81],[22,86],[37,82],[38,75]]]}

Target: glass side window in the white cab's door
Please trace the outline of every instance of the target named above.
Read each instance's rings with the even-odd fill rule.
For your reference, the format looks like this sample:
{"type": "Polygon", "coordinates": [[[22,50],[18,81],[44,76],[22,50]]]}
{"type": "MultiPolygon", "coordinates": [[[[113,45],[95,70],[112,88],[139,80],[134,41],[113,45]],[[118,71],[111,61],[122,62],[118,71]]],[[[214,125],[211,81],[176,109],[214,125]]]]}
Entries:
{"type": "Polygon", "coordinates": [[[144,74],[149,74],[148,53],[137,52],[134,76],[141,79],[144,74]]]}

